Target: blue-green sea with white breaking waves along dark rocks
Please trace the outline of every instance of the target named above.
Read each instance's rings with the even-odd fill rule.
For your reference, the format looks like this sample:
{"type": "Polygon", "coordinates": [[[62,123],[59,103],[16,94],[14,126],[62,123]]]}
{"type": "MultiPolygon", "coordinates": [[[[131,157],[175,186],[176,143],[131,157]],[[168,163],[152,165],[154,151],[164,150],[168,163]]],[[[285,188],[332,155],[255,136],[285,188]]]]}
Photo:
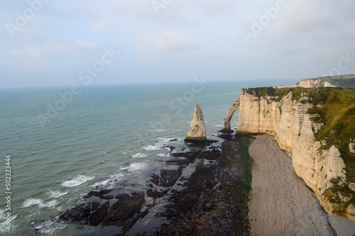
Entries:
{"type": "Polygon", "coordinates": [[[144,184],[164,145],[183,144],[196,103],[214,139],[242,88],[293,82],[0,89],[0,235],[97,235],[55,218],[94,189],[144,184]]]}

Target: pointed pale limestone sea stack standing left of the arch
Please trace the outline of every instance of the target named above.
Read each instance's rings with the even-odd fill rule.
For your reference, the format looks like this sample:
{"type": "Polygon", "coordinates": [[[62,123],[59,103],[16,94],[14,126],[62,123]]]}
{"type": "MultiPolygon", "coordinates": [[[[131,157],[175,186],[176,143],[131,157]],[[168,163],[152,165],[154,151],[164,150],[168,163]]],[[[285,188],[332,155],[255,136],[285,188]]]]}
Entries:
{"type": "Polygon", "coordinates": [[[195,106],[195,113],[192,115],[191,121],[185,142],[206,142],[206,127],[204,126],[204,117],[199,104],[195,106]]]}

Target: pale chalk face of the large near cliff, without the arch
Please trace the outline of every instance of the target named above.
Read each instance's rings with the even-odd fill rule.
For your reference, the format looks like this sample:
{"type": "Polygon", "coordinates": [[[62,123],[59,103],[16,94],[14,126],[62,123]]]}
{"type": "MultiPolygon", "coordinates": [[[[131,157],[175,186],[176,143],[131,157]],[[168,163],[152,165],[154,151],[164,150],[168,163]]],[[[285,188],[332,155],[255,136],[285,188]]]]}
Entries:
{"type": "MultiPolygon", "coordinates": [[[[324,124],[319,114],[308,111],[321,105],[315,106],[306,92],[297,94],[297,98],[293,91],[270,94],[241,91],[238,131],[275,135],[280,148],[292,153],[297,176],[314,191],[321,205],[333,215],[355,220],[355,192],[347,187],[355,184],[346,181],[344,159],[334,145],[324,149],[329,141],[316,140],[324,124]]],[[[353,146],[348,146],[351,151],[353,146]]]]}

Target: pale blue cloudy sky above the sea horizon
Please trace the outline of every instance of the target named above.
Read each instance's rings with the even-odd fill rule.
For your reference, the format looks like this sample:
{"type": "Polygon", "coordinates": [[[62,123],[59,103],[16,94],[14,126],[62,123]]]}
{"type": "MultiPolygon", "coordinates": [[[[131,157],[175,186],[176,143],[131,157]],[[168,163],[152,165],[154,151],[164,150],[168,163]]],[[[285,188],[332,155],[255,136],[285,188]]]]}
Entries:
{"type": "Polygon", "coordinates": [[[352,74],[354,9],[354,0],[1,1],[0,87],[352,74]]]}

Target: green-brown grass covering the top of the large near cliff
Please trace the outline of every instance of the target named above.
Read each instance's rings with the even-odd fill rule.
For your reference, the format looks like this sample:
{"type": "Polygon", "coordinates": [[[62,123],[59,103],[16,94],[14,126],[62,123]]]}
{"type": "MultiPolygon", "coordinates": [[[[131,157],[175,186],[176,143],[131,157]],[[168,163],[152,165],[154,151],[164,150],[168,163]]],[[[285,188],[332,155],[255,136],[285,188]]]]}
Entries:
{"type": "Polygon", "coordinates": [[[246,89],[248,94],[255,94],[260,99],[271,96],[274,101],[281,101],[290,91],[293,100],[299,100],[303,92],[310,97],[313,106],[308,113],[315,115],[312,118],[317,123],[323,123],[316,133],[317,140],[326,140],[323,150],[329,150],[332,145],[339,149],[346,165],[348,181],[355,182],[355,154],[349,150],[349,142],[355,140],[355,89],[344,88],[283,88],[258,87],[246,89]],[[322,105],[322,106],[317,106],[322,105]]]}

